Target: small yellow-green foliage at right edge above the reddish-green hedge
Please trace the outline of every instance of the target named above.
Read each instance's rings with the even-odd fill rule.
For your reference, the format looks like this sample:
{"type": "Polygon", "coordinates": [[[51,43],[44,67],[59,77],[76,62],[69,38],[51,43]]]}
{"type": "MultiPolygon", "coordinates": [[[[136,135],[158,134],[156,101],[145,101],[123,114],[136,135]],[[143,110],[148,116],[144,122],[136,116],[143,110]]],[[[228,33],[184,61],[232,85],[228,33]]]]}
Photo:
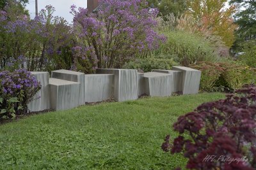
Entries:
{"type": "Polygon", "coordinates": [[[256,42],[246,43],[244,54],[239,56],[239,60],[250,67],[256,67],[256,42]]]}

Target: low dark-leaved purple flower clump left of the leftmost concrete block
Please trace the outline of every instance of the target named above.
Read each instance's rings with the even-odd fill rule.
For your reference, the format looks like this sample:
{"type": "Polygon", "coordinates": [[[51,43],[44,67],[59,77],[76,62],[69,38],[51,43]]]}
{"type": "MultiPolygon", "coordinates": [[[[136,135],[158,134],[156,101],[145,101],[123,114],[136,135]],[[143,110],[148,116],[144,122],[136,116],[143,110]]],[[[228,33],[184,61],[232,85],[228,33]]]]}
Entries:
{"type": "Polygon", "coordinates": [[[40,89],[40,82],[25,69],[0,72],[0,118],[26,113],[28,103],[40,89]]]}

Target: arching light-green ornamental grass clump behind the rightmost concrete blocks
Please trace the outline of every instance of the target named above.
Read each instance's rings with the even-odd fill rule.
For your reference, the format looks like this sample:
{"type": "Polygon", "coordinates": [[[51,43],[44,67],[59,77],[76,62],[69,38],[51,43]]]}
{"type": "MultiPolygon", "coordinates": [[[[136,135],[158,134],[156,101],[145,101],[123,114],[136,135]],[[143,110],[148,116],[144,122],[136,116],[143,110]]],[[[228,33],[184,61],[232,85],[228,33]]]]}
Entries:
{"type": "Polygon", "coordinates": [[[162,53],[177,55],[177,61],[182,66],[218,59],[211,43],[198,34],[186,31],[168,31],[164,34],[167,36],[167,41],[161,47],[162,53]]]}

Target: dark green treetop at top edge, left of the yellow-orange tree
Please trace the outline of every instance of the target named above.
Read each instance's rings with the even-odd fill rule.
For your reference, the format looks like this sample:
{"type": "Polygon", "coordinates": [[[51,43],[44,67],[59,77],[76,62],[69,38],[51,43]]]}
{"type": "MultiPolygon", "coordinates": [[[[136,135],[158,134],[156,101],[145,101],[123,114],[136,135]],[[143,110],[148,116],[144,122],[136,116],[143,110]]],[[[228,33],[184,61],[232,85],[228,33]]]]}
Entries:
{"type": "Polygon", "coordinates": [[[148,4],[154,4],[163,16],[173,13],[177,17],[187,9],[186,0],[148,0],[148,4]]]}

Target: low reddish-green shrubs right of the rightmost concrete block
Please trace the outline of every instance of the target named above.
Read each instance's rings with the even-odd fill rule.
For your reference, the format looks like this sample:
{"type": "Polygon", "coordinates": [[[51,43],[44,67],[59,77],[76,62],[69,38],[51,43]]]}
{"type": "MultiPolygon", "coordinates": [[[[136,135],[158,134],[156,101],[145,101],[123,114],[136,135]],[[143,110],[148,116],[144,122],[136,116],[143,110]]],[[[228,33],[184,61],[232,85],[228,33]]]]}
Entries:
{"type": "Polygon", "coordinates": [[[255,69],[236,62],[198,62],[191,68],[202,71],[202,91],[236,90],[243,85],[256,83],[255,69]]]}

